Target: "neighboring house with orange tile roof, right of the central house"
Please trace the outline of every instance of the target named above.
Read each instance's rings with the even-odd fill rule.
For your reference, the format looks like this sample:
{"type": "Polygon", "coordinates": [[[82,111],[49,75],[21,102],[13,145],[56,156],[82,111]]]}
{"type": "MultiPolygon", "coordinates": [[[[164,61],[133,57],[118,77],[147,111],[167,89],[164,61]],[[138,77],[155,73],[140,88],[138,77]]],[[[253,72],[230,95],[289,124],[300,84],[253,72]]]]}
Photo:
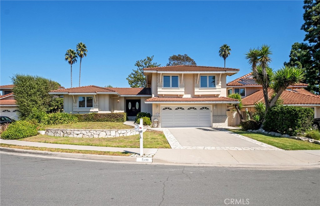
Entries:
{"type": "MultiPolygon", "coordinates": [[[[314,117],[320,118],[320,96],[312,94],[305,90],[308,84],[299,83],[290,85],[280,96],[284,105],[310,107],[314,110],[314,117]]],[[[262,86],[257,84],[252,78],[252,73],[246,74],[236,80],[227,84],[228,95],[232,93],[239,93],[242,96],[243,110],[242,115],[246,118],[245,110],[247,109],[251,114],[254,113],[254,104],[257,102],[264,102],[262,86]]],[[[268,90],[269,98],[273,91],[268,90]]],[[[228,126],[235,126],[240,123],[238,114],[230,108],[228,111],[228,126]]]]}

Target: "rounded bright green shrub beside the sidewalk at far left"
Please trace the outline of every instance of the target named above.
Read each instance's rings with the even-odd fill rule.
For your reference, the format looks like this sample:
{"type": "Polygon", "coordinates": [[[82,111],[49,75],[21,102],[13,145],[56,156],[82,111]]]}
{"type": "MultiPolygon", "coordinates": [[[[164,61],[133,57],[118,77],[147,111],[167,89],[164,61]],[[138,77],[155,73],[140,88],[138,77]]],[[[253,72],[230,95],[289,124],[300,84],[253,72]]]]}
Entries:
{"type": "Polygon", "coordinates": [[[28,121],[20,120],[11,123],[7,130],[1,134],[5,140],[16,140],[26,137],[36,136],[38,134],[37,126],[28,121]]]}

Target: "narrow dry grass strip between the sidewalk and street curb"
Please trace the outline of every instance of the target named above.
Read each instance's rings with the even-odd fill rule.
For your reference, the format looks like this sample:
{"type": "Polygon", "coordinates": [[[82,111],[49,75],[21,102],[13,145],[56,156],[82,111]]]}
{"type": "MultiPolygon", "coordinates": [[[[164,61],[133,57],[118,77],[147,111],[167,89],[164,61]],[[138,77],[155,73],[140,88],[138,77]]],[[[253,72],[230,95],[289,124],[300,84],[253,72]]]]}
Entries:
{"type": "Polygon", "coordinates": [[[78,153],[78,154],[90,154],[90,155],[111,155],[111,156],[130,156],[128,152],[108,152],[108,151],[94,151],[94,150],[77,150],[77,149],[59,149],[59,148],[47,148],[47,147],[31,147],[20,146],[12,144],[0,143],[0,147],[14,148],[14,149],[29,149],[48,152],[65,152],[65,153],[78,153]]]}

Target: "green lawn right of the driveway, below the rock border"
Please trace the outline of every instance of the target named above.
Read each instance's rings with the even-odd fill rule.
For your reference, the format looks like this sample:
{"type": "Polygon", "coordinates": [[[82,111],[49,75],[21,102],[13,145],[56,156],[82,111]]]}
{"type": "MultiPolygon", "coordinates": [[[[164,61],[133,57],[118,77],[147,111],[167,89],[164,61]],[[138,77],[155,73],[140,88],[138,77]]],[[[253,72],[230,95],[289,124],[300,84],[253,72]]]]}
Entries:
{"type": "Polygon", "coordinates": [[[310,143],[302,140],[294,140],[285,137],[276,137],[267,134],[259,134],[252,132],[244,132],[241,130],[228,129],[230,132],[234,132],[236,134],[241,134],[245,137],[249,137],[251,139],[266,143],[268,145],[275,146],[284,150],[315,150],[320,149],[319,144],[310,143]]]}

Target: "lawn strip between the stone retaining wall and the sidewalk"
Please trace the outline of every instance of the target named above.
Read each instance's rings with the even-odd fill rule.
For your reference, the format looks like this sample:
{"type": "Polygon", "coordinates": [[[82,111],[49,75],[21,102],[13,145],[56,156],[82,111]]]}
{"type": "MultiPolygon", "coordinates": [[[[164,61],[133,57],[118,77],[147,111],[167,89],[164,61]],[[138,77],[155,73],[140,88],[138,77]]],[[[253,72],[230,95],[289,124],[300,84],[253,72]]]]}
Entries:
{"type": "MultiPolygon", "coordinates": [[[[140,148],[140,135],[110,138],[76,138],[76,137],[52,137],[37,135],[20,139],[21,141],[44,142],[53,144],[72,144],[99,147],[140,148]]],[[[144,148],[170,148],[163,132],[146,131],[143,133],[144,148]]]]}

